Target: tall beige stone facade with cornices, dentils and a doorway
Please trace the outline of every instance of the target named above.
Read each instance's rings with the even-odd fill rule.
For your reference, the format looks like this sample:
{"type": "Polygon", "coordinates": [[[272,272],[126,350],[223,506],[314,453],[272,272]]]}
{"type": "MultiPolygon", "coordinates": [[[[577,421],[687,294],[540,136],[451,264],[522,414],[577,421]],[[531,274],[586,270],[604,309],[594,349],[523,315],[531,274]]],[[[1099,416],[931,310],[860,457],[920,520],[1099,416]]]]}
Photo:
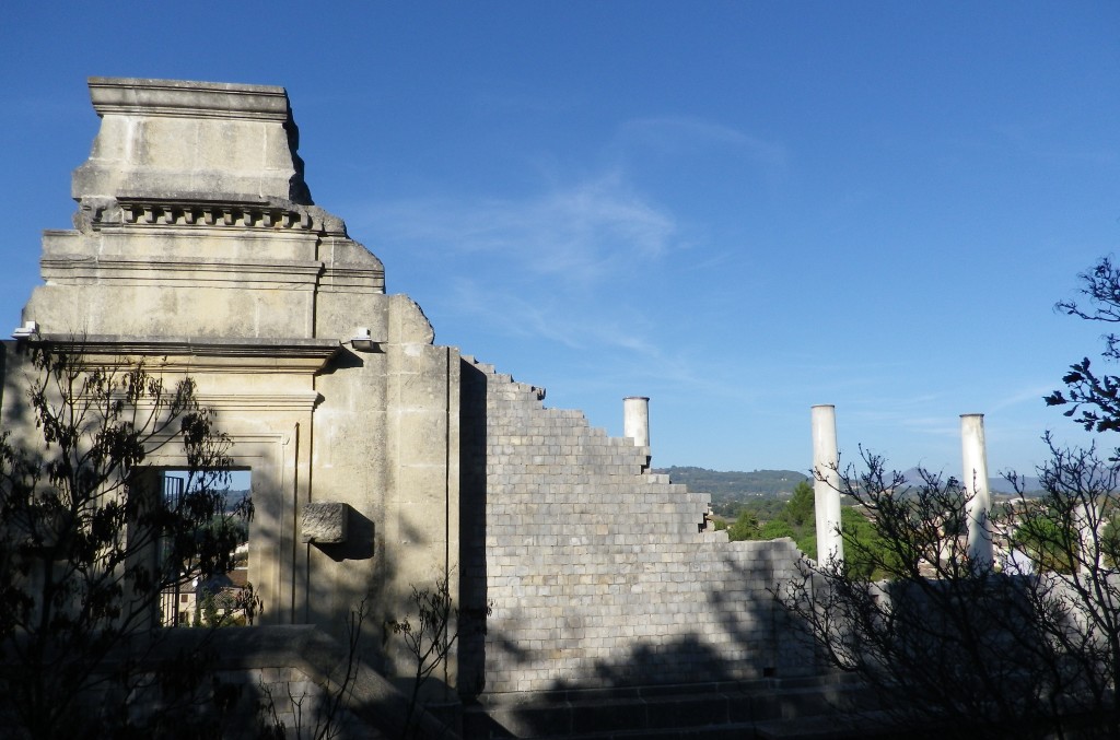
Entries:
{"type": "MultiPolygon", "coordinates": [[[[312,204],[282,87],[88,84],[101,125],[73,175],[75,227],[44,234],[24,340],[195,381],[252,469],[263,622],[339,635],[367,597],[372,621],[401,616],[410,584],[456,565],[458,350],[432,344],[420,307],[385,294],[381,260],[312,204]],[[302,536],[309,503],[345,505],[345,542],[302,536]]],[[[8,387],[0,415],[34,440],[22,393],[8,387]]]]}

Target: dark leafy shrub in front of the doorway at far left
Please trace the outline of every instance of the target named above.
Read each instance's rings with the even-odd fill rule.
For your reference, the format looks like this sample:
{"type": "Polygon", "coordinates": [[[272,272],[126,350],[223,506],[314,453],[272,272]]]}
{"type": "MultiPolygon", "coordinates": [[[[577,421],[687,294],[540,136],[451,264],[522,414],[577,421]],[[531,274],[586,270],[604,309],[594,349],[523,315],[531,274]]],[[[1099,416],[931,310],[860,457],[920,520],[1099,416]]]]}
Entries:
{"type": "Polygon", "coordinates": [[[252,505],[226,510],[230,441],[192,381],[21,348],[38,439],[0,434],[0,650],[19,674],[0,678],[0,701],[31,738],[122,734],[127,709],[91,716],[77,701],[111,652],[151,629],[161,591],[231,568],[252,505]],[[176,500],[147,467],[156,453],[185,461],[176,500]]]}

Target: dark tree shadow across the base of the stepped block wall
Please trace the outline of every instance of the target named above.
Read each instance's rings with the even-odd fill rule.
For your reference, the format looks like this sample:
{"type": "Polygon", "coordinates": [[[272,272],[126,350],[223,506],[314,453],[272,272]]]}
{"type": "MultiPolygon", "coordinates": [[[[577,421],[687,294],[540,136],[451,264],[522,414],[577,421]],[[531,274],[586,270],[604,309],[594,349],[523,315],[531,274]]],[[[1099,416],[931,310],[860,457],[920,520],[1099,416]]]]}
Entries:
{"type": "MultiPolygon", "coordinates": [[[[757,580],[759,570],[782,573],[792,566],[783,556],[784,546],[698,545],[712,546],[724,551],[731,581],[757,580]],[[744,558],[744,551],[753,556],[744,558]]],[[[597,659],[582,671],[584,676],[557,678],[545,691],[483,694],[476,705],[467,708],[465,736],[640,736],[678,729],[680,737],[693,737],[688,733],[696,728],[719,727],[727,733],[719,737],[755,737],[760,731],[799,737],[802,730],[813,731],[810,725],[815,723],[830,728],[828,737],[865,737],[860,712],[871,708],[868,697],[857,682],[818,659],[808,630],[768,592],[743,603],[732,601],[716,583],[704,596],[718,617],[724,641],[713,643],[710,633],[697,630],[663,640],[635,639],[624,655],[597,659]],[[704,678],[666,682],[665,676],[682,665],[704,678]],[[803,727],[790,730],[791,721],[803,727]]],[[[519,656],[515,659],[524,665],[532,664],[531,650],[506,648],[502,635],[491,631],[492,646],[502,646],[508,650],[506,656],[519,656]]]]}

